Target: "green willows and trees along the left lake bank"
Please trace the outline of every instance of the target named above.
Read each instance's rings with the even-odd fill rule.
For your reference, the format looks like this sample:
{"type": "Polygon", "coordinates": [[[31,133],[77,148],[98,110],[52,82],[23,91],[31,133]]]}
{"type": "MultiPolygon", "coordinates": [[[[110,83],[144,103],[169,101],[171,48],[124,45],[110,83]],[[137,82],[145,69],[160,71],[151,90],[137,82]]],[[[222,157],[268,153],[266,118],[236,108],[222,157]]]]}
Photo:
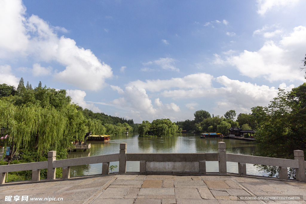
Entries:
{"type": "MultiPolygon", "coordinates": [[[[57,151],[57,159],[67,158],[72,141],[84,140],[86,132],[115,135],[133,131],[132,120],[93,113],[72,103],[65,90],[37,87],[21,78],[17,89],[0,84],[1,147],[10,147],[8,161],[16,153],[27,162],[46,161],[47,152],[57,151]],[[89,114],[88,114],[89,113],[89,114]],[[102,115],[101,117],[95,117],[102,115]]],[[[59,169],[60,170],[60,169],[59,169]]],[[[42,171],[44,178],[44,171],[42,171]]]]}

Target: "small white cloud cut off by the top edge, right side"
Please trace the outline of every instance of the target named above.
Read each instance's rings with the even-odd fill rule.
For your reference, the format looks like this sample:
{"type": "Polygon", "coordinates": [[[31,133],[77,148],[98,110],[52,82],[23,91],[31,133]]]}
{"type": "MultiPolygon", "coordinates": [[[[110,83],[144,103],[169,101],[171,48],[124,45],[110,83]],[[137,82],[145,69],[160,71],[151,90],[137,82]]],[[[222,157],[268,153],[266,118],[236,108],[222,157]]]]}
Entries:
{"type": "Polygon", "coordinates": [[[293,6],[299,0],[257,0],[258,11],[260,15],[264,15],[267,11],[272,9],[279,9],[280,7],[293,6]]]}

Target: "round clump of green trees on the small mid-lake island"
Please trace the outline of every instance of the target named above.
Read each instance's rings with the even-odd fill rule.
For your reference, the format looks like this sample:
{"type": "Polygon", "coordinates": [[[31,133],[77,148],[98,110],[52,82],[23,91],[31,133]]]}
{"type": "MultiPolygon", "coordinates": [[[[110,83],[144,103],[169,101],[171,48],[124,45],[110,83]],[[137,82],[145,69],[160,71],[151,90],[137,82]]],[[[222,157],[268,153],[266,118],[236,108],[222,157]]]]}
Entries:
{"type": "Polygon", "coordinates": [[[149,121],[143,121],[138,127],[139,136],[168,136],[180,133],[181,129],[171,122],[170,119],[156,119],[150,123],[149,121]]]}

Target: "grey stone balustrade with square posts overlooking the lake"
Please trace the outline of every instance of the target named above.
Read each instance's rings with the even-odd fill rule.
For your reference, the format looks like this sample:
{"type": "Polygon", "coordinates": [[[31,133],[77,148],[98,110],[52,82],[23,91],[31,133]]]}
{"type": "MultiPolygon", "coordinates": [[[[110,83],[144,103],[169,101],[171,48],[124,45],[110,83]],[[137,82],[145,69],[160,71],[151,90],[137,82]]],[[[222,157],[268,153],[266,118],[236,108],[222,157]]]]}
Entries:
{"type": "Polygon", "coordinates": [[[206,161],[219,162],[219,174],[226,175],[226,161],[238,163],[240,176],[246,176],[246,164],[278,166],[279,179],[288,180],[288,169],[296,169],[296,180],[306,182],[304,152],[294,150],[294,160],[227,154],[224,142],[218,143],[218,153],[126,153],[126,143],[120,144],[119,154],[56,160],[56,151],[48,152],[48,161],[0,166],[0,184],[7,172],[32,170],[32,181],[39,181],[40,169],[47,169],[47,180],[55,179],[55,169],[63,168],[62,179],[70,178],[70,166],[102,163],[102,174],[109,173],[109,164],[119,161],[119,174],[126,173],[126,161],[140,161],[141,173],[206,174],[206,161]]]}

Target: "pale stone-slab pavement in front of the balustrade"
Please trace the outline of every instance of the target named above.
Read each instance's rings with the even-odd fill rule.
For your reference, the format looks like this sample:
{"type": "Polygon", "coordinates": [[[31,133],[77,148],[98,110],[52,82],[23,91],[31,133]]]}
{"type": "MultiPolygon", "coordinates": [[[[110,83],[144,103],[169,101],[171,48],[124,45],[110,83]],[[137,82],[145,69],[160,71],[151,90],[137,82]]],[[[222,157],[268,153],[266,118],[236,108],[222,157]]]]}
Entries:
{"type": "MultiPolygon", "coordinates": [[[[20,197],[21,198],[21,197],[20,197]]],[[[240,176],[112,174],[0,186],[0,203],[60,204],[306,204],[306,183],[240,176]],[[28,195],[28,202],[5,196],[28,195]],[[302,201],[243,201],[237,195],[303,195],[302,201]],[[30,198],[63,201],[30,201],[30,198]]]]}

